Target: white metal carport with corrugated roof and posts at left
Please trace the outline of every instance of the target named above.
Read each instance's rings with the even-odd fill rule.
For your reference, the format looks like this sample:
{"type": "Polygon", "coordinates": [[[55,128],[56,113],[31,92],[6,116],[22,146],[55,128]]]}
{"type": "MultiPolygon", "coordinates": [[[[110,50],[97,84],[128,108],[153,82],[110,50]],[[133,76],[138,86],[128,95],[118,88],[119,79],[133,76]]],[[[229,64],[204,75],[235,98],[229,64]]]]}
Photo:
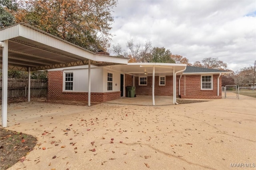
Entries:
{"type": "Polygon", "coordinates": [[[26,23],[0,30],[2,66],[2,127],[7,127],[8,70],[28,71],[28,102],[30,71],[87,65],[88,106],[90,106],[90,65],[127,64],[128,59],[99,55],[55,37],[26,23]]]}

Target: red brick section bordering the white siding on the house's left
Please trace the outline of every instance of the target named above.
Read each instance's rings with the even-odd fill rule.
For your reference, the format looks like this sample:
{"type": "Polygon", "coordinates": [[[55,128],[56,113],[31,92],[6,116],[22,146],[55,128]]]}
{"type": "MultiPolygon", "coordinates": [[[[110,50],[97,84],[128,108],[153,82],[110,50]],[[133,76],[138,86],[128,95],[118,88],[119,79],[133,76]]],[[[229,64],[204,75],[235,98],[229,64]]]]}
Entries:
{"type": "MultiPolygon", "coordinates": [[[[88,101],[88,92],[63,92],[63,71],[48,72],[48,99],[88,101]]],[[[91,92],[91,102],[118,99],[121,92],[91,92]]]]}

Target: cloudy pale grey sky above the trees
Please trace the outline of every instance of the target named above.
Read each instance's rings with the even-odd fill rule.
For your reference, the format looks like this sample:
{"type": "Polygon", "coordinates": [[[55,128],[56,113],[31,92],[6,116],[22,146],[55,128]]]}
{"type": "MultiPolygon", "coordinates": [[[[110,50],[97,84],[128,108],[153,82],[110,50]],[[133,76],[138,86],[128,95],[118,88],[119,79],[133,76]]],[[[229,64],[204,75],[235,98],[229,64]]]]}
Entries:
{"type": "Polygon", "coordinates": [[[256,60],[255,0],[119,0],[113,10],[112,45],[151,41],[190,63],[218,57],[234,71],[256,60]]]}

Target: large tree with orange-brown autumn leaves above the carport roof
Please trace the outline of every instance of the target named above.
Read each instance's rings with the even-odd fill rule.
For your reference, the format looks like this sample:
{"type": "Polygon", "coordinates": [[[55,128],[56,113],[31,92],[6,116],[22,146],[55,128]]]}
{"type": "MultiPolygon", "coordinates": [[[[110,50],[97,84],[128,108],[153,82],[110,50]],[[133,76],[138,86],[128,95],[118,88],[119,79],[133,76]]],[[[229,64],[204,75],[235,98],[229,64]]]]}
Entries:
{"type": "Polygon", "coordinates": [[[116,0],[31,0],[20,2],[17,22],[26,22],[91,51],[110,47],[116,0]]]}

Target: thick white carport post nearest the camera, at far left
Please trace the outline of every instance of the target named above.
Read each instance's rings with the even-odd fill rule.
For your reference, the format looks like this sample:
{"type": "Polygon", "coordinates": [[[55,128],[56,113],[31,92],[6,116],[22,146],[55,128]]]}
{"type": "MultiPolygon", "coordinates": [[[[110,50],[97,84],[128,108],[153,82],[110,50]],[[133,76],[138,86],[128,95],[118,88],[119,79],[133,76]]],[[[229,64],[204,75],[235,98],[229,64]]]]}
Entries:
{"type": "Polygon", "coordinates": [[[7,127],[7,100],[8,100],[8,40],[2,43],[2,127],[7,127]]]}

